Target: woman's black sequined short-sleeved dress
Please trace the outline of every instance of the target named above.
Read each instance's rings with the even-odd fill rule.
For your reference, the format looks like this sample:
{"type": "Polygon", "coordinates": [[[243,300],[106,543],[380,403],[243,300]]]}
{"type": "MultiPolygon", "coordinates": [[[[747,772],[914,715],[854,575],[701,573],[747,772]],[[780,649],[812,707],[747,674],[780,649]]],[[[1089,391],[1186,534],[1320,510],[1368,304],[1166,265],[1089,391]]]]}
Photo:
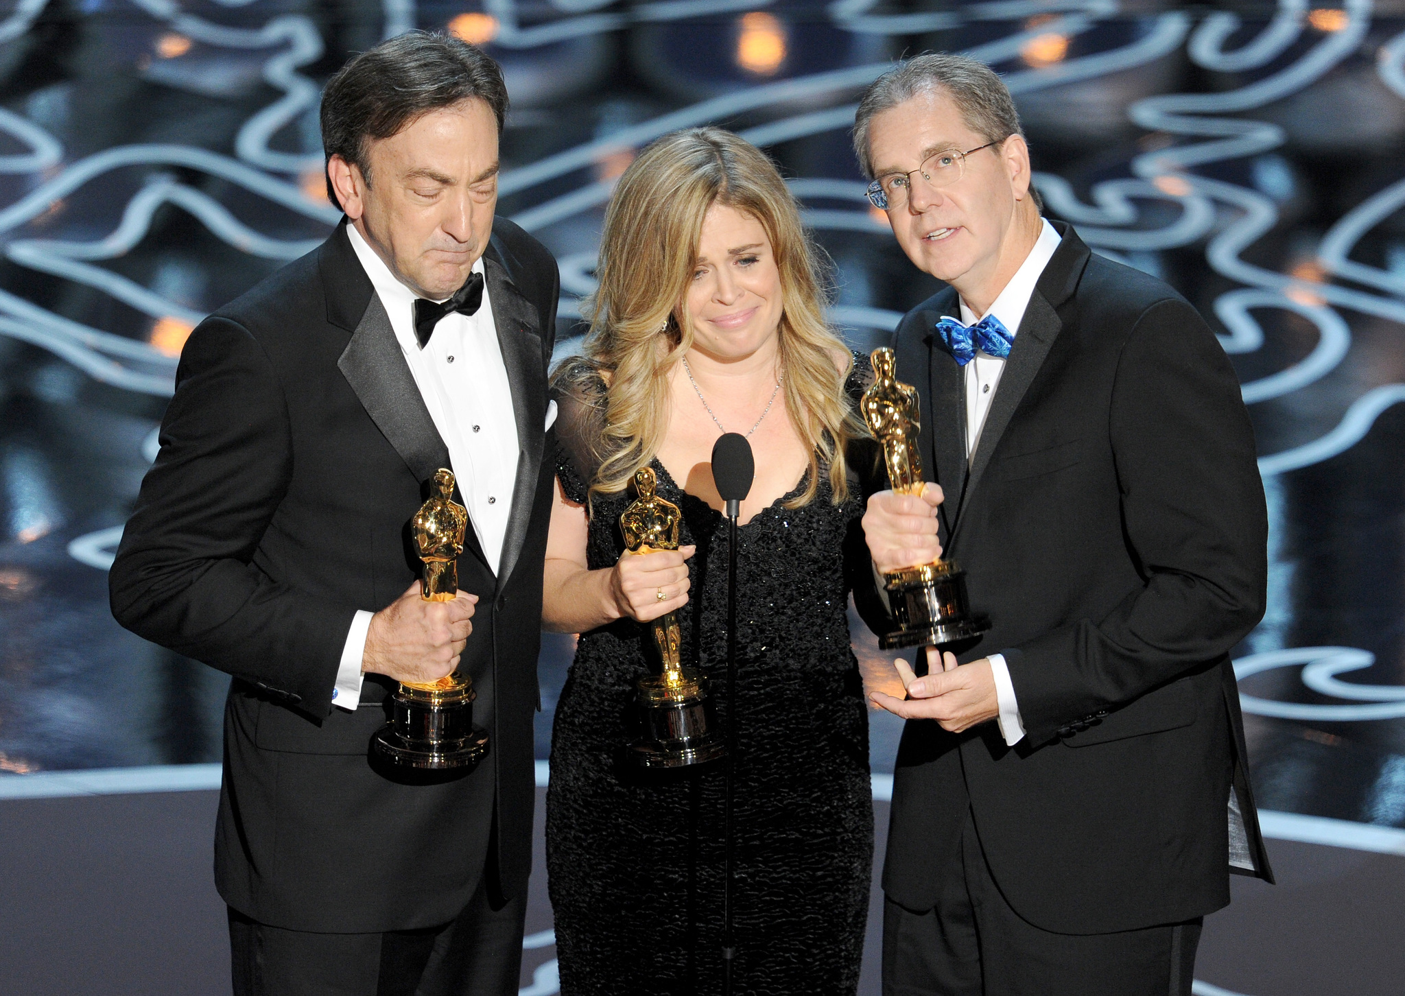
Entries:
{"type": "MultiPolygon", "coordinates": [[[[867,360],[856,358],[847,385],[856,403],[870,378],[867,360]]],[[[558,400],[559,479],[582,502],[592,409],[558,400]]],[[[740,528],[738,995],[840,996],[858,983],[873,802],[846,605],[854,572],[870,570],[858,530],[868,489],[853,469],[874,465],[870,447],[851,447],[842,504],[822,468],[812,502],[783,507],[797,486],[740,528]]],[[[725,722],[726,523],[658,461],[653,469],[659,496],[683,510],[681,542],[698,548],[693,598],[679,614],[683,660],[710,676],[725,722]]],[[[622,552],[620,513],[631,500],[593,496],[592,569],[622,552]]],[[[721,993],[722,763],[660,773],[625,760],[625,745],[641,739],[635,681],[649,673],[646,639],[631,620],[582,634],[556,705],[547,870],[563,996],[721,993]]]]}

